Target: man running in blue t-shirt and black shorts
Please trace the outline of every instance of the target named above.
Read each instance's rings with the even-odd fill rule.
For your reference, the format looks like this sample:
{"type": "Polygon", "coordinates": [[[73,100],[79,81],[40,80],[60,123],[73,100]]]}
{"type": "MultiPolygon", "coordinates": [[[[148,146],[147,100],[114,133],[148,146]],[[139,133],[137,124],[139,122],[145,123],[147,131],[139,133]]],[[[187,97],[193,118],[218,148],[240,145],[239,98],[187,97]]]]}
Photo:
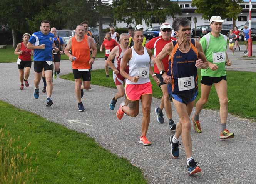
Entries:
{"type": "Polygon", "coordinates": [[[54,44],[54,35],[50,33],[50,22],[43,20],[41,22],[39,32],[33,33],[33,35],[28,40],[27,48],[34,49],[34,70],[35,70],[35,99],[39,98],[39,83],[42,77],[42,71],[44,69],[46,77],[46,92],[47,92],[47,107],[50,107],[53,102],[52,96],[52,49],[54,52],[58,52],[59,49],[54,44]]]}

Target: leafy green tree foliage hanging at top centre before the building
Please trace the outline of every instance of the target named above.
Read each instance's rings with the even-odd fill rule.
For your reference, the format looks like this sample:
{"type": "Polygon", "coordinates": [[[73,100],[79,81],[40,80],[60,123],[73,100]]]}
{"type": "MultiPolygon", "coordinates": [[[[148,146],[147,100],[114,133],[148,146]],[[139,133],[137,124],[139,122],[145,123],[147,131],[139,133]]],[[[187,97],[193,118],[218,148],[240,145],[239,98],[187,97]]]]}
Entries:
{"type": "Polygon", "coordinates": [[[176,2],[170,0],[114,0],[114,18],[131,23],[152,25],[152,20],[157,18],[164,22],[167,16],[174,17],[181,10],[176,2]]]}

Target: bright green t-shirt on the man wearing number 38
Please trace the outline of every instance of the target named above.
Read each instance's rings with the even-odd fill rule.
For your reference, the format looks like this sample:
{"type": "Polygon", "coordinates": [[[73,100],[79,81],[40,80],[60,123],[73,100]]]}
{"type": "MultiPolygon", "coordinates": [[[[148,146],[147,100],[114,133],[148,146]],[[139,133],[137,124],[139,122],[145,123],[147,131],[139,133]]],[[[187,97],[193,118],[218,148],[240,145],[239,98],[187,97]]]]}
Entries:
{"type": "MultiPolygon", "coordinates": [[[[225,35],[220,34],[219,37],[214,37],[211,33],[208,33],[202,39],[200,39],[200,43],[202,45],[202,49],[204,55],[206,56],[207,61],[213,63],[213,58],[219,56],[214,56],[214,53],[224,52],[226,55],[227,49],[227,37],[225,35]]],[[[222,56],[221,56],[222,58],[222,56]]],[[[213,71],[210,68],[201,69],[201,76],[209,76],[209,77],[221,77],[226,76],[226,58],[223,59],[223,62],[214,62],[218,66],[218,69],[213,71]]],[[[216,61],[216,59],[215,59],[216,61]]]]}

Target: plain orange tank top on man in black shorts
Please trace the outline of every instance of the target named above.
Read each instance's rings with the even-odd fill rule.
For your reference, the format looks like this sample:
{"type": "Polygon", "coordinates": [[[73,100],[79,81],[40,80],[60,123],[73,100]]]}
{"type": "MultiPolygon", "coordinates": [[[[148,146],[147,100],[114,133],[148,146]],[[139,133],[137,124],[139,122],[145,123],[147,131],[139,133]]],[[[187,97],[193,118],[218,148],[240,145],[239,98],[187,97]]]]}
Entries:
{"type": "Polygon", "coordinates": [[[72,55],[77,59],[72,62],[72,69],[90,69],[90,48],[87,41],[87,35],[84,35],[84,39],[78,42],[75,36],[71,38],[71,50],[72,55]]]}

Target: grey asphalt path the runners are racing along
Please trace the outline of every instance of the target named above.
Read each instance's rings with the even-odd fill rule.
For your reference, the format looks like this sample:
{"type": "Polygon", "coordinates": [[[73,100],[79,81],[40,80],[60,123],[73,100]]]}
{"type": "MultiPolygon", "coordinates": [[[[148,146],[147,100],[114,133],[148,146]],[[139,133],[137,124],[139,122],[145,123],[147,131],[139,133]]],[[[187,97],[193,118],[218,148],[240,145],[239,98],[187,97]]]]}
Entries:
{"type": "MultiPolygon", "coordinates": [[[[95,62],[94,69],[103,67],[103,62],[100,60],[95,62]]],[[[252,61],[252,63],[256,62],[252,61]]],[[[251,66],[247,65],[247,62],[245,65],[251,66]]],[[[71,72],[70,68],[69,61],[61,62],[62,74],[71,72]]],[[[228,128],[235,133],[236,137],[223,141],[218,138],[219,113],[203,110],[200,115],[203,132],[199,134],[191,130],[193,156],[196,161],[200,162],[199,165],[203,172],[188,176],[183,146],[180,146],[179,159],[172,159],[169,154],[168,138],[174,132],[168,130],[167,121],[164,124],[156,122],[154,108],[159,105],[159,99],[152,99],[151,123],[147,134],[152,146],[145,147],[139,144],[141,112],[136,118],[124,116],[120,121],[115,116],[117,109],[109,110],[108,104],[116,92],[115,89],[92,85],[92,89],[87,90],[83,98],[86,111],[78,112],[74,96],[74,82],[58,78],[54,80],[52,95],[54,105],[47,108],[45,107],[46,95],[40,94],[39,99],[33,98],[33,73],[32,70],[29,79],[31,86],[18,90],[17,64],[0,64],[0,100],[41,115],[70,129],[88,133],[104,148],[127,158],[132,164],[141,168],[149,183],[256,183],[256,142],[254,138],[256,122],[229,115],[228,128]]],[[[42,89],[42,82],[40,86],[42,89]]],[[[122,100],[118,100],[117,107],[120,102],[122,100]]],[[[178,116],[175,108],[173,106],[172,108],[174,109],[173,119],[177,123],[178,116]]],[[[166,117],[165,113],[164,117],[166,117]]]]}

